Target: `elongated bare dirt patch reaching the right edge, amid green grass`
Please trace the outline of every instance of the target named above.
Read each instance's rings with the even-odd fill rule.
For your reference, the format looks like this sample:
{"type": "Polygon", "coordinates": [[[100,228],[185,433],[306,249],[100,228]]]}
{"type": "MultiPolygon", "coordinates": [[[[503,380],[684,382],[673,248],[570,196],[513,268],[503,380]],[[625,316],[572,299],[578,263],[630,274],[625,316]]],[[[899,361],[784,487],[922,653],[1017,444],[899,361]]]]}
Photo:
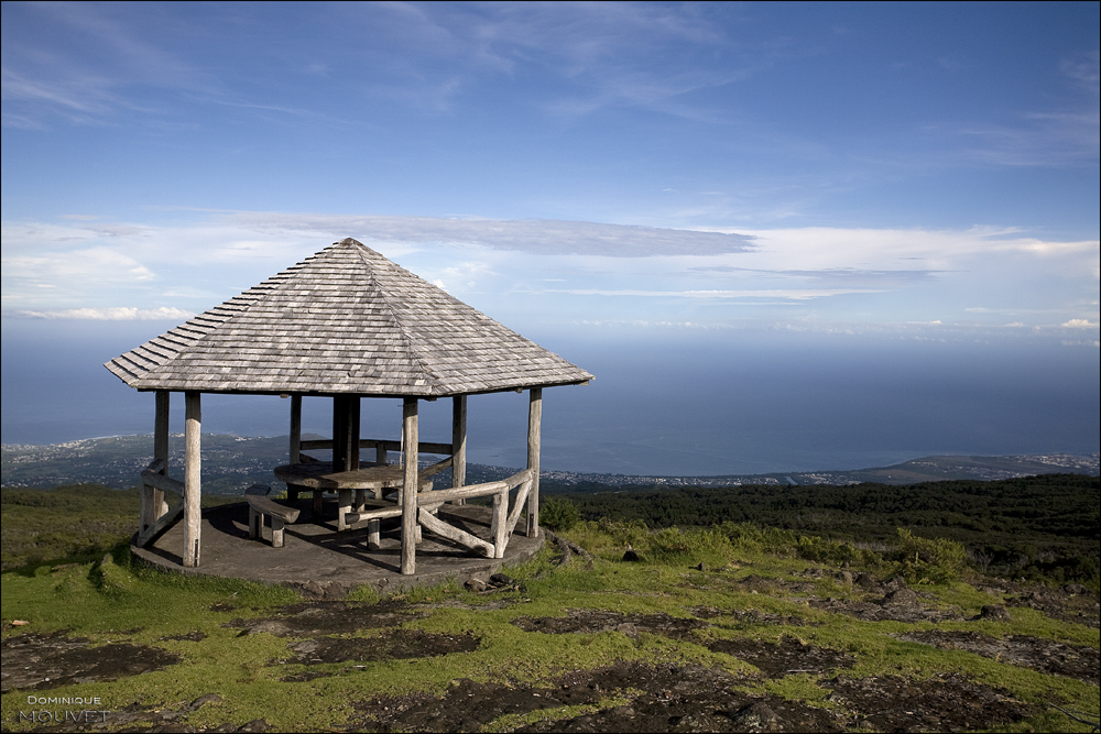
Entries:
{"type": "Polygon", "coordinates": [[[947,650],[967,650],[999,662],[1032,668],[1054,676],[1101,683],[1101,656],[1092,647],[1067,645],[1042,637],[1013,635],[998,639],[977,632],[928,629],[900,635],[900,639],[933,645],[947,650]]]}

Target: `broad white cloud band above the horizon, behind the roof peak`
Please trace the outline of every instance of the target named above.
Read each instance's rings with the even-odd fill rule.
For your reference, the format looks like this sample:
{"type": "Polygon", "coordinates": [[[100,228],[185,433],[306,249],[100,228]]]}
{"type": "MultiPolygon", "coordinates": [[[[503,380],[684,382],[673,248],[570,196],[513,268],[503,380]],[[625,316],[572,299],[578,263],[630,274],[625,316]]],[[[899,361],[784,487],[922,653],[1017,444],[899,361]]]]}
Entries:
{"type": "Polygon", "coordinates": [[[562,220],[193,213],[199,220],[189,224],[3,223],[4,313],[77,318],[92,309],[85,318],[138,318],[128,315],[205,310],[353,237],[491,315],[705,322],[724,318],[719,311],[729,305],[752,306],[764,319],[776,306],[827,322],[984,319],[1071,328],[1098,318],[1099,243],[1023,237],[1012,228],[716,232],[562,220]]]}

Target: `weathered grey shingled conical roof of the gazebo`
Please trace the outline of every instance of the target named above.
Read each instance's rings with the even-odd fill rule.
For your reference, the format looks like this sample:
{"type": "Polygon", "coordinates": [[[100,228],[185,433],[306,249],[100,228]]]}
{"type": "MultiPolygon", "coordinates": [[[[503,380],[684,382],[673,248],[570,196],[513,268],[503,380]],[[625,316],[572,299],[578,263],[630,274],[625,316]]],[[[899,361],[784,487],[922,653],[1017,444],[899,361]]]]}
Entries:
{"type": "Polygon", "coordinates": [[[352,239],[105,366],[138,390],[444,396],[592,375],[352,239]]]}

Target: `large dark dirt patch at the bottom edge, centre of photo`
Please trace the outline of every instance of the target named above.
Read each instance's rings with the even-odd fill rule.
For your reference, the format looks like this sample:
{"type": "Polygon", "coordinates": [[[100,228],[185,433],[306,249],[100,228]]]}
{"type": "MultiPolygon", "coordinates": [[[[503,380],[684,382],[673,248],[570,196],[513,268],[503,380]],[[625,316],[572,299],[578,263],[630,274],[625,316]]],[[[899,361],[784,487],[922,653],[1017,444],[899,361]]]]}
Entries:
{"type": "Polygon", "coordinates": [[[439,698],[403,697],[357,704],[363,719],[353,727],[470,732],[505,715],[542,712],[537,721],[513,731],[842,731],[837,717],[826,710],[732,690],[738,682],[723,670],[701,666],[628,662],[571,672],[549,686],[503,687],[459,680],[439,698]],[[595,710],[578,715],[576,709],[565,706],[595,710]]]}

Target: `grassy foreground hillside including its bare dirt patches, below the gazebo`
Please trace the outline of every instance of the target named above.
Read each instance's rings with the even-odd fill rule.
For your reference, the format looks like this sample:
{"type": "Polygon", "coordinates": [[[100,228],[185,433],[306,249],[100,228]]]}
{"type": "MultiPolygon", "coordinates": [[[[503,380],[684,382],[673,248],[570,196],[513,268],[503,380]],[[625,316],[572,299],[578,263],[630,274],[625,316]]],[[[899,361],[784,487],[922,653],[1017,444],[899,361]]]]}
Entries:
{"type": "Polygon", "coordinates": [[[548,547],[489,593],[386,600],[165,574],[126,547],[7,571],[3,726],[89,708],[66,697],[107,731],[1073,732],[1064,711],[1097,713],[1097,596],[992,585],[949,541],[567,536],[591,559],[548,547]]]}

